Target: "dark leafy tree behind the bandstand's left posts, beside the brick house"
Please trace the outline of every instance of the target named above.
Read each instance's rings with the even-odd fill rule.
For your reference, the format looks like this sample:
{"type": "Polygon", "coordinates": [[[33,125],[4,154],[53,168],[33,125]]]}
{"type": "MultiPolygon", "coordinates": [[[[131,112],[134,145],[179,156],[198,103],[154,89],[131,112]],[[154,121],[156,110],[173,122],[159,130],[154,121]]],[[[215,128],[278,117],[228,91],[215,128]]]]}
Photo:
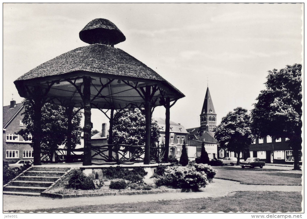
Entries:
{"type": "MultiPolygon", "coordinates": [[[[32,120],[34,110],[28,99],[23,101],[23,105],[25,106],[25,112],[23,113],[22,122],[25,124],[25,129],[19,130],[17,134],[21,135],[25,140],[29,140],[29,135],[35,135],[32,120]]],[[[77,109],[74,109],[73,112],[76,111],[77,109]]],[[[45,103],[41,112],[41,152],[47,154],[49,159],[52,159],[58,145],[64,144],[67,140],[67,116],[64,107],[50,103],[45,103]]],[[[76,144],[80,144],[80,134],[82,132],[80,127],[81,117],[82,113],[79,111],[72,119],[72,132],[70,133],[72,148],[75,148],[76,144]]]]}

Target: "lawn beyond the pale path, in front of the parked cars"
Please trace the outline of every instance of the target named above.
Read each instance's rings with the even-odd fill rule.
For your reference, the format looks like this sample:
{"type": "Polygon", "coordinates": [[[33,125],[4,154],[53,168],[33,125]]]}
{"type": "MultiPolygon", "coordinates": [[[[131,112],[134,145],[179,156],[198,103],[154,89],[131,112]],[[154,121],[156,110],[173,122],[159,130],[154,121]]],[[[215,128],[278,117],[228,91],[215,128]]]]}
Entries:
{"type": "Polygon", "coordinates": [[[242,184],[252,185],[295,185],[302,182],[301,173],[287,173],[276,169],[249,169],[237,167],[213,167],[217,170],[215,178],[235,180],[242,184]]]}

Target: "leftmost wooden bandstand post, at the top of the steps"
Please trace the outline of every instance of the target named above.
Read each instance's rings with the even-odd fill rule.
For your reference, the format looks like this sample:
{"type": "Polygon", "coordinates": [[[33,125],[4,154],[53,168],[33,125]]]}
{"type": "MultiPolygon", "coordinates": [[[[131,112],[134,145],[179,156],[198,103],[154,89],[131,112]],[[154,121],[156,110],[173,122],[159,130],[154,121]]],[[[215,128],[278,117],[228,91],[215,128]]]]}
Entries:
{"type": "Polygon", "coordinates": [[[33,165],[41,165],[41,108],[43,103],[41,100],[33,100],[33,165]]]}

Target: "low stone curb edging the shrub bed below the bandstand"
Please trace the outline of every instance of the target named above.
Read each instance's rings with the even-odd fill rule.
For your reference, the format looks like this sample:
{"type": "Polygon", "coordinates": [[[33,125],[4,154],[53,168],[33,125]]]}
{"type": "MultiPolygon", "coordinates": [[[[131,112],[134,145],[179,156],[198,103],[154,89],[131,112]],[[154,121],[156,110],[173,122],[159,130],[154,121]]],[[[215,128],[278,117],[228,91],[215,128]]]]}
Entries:
{"type": "Polygon", "coordinates": [[[106,192],[106,193],[93,193],[93,194],[56,194],[41,192],[41,196],[48,198],[80,198],[80,197],[98,197],[98,196],[113,196],[113,195],[141,195],[141,194],[159,194],[159,193],[175,193],[182,192],[182,189],[164,189],[164,190],[142,190],[142,191],[126,191],[126,192],[106,192]]]}

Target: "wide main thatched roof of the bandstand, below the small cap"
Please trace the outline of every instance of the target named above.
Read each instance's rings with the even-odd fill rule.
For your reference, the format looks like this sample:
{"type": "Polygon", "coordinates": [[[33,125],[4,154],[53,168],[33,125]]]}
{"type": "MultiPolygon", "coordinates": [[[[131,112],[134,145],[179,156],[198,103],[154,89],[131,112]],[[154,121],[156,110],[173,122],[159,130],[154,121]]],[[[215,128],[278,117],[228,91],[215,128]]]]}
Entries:
{"type": "MultiPolygon", "coordinates": [[[[76,48],[64,53],[56,58],[49,60],[31,71],[19,77],[14,83],[21,97],[28,97],[26,86],[38,85],[41,87],[56,81],[52,86],[49,96],[57,99],[72,101],[77,106],[82,106],[82,99],[76,94],[74,86],[65,82],[65,79],[80,78],[91,76],[92,88],[91,95],[97,94],[101,87],[100,82],[107,83],[109,79],[116,79],[110,84],[110,89],[103,89],[100,95],[105,98],[97,98],[93,103],[93,108],[99,107],[110,109],[111,107],[122,108],[127,104],[137,104],[141,106],[144,101],[136,90],[120,80],[143,84],[157,85],[166,91],[166,95],[172,100],[184,97],[179,90],[163,79],[144,63],[130,56],[119,48],[103,44],[93,44],[85,47],[76,48]],[[114,95],[115,94],[115,95],[114,95]],[[112,99],[112,100],[111,100],[112,99]],[[95,106],[94,106],[95,105],[95,106]]],[[[80,79],[78,79],[80,80],[80,79]]],[[[82,80],[82,79],[81,79],[82,80]]],[[[157,91],[154,98],[160,95],[157,91]]],[[[60,102],[56,102],[60,104],[60,102]]],[[[159,101],[155,106],[160,106],[159,101]]]]}

